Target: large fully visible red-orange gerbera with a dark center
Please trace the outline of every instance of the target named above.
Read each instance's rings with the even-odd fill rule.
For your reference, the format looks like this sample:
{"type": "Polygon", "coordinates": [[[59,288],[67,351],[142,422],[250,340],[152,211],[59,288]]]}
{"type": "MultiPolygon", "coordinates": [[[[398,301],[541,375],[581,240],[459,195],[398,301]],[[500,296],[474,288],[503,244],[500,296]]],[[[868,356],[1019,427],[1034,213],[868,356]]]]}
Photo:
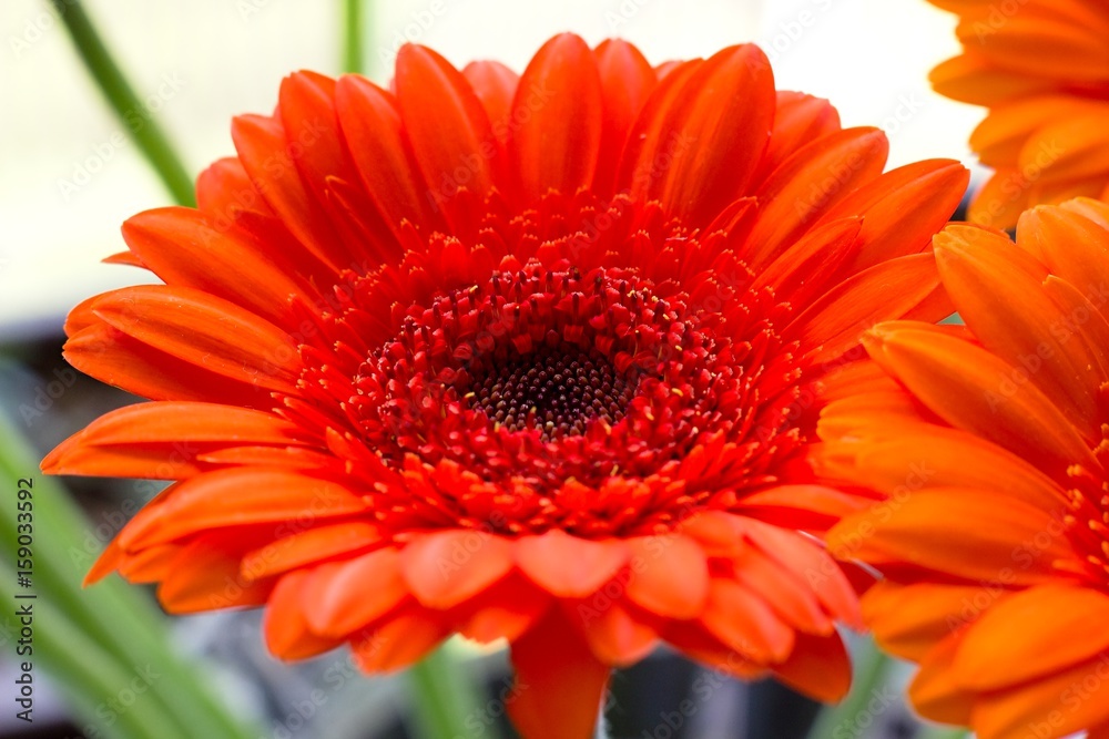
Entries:
{"type": "Polygon", "coordinates": [[[882,174],[750,45],[559,35],[519,79],[410,45],[394,86],[294,74],[199,209],[124,225],[112,260],[165,285],[80,305],[65,356],[154,402],[43,469],[179,482],[90,578],[265,604],[276,655],[369,671],[506,638],[529,737],[588,737],[660,640],[838,698],[857,602],[807,533],[862,502],[806,462],[822,378],[950,311],[966,172],[882,174]]]}

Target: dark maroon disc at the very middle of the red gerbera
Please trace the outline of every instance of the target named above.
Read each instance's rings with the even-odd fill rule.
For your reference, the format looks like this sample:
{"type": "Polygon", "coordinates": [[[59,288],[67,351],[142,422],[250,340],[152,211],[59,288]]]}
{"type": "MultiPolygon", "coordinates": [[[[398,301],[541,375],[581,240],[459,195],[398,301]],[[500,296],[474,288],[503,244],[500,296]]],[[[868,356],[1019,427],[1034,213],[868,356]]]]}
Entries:
{"type": "Polygon", "coordinates": [[[471,407],[508,431],[538,429],[543,441],[584,433],[593,419],[619,421],[637,384],[600,352],[567,343],[490,362],[476,374],[471,407]]]}

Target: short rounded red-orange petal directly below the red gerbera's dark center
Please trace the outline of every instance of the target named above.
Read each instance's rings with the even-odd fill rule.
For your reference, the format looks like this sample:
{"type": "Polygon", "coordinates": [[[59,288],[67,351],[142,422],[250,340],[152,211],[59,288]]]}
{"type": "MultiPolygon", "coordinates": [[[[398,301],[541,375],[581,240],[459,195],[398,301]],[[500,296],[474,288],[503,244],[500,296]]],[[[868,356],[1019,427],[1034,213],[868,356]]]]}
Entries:
{"type": "Polygon", "coordinates": [[[612,579],[631,552],[621,541],[590,541],[553,528],[515,542],[520,569],[562,598],[584,598],[612,579]]]}

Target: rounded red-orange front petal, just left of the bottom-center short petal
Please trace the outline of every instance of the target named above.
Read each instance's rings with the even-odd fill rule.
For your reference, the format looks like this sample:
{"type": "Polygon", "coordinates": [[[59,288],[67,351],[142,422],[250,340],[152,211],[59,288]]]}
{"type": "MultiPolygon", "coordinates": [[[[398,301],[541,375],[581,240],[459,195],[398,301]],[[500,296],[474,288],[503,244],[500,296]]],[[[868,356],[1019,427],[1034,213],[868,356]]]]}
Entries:
{"type": "Polygon", "coordinates": [[[478,595],[513,564],[508,540],[462,528],[417,536],[405,546],[401,558],[413,595],[436,609],[478,595]]]}

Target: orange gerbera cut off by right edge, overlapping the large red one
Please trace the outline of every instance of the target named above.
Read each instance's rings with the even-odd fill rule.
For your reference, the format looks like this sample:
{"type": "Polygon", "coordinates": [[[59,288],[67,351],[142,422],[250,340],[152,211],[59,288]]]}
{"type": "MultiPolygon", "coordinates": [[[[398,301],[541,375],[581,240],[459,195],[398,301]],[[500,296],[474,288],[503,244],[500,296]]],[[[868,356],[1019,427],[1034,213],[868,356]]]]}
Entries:
{"type": "Polygon", "coordinates": [[[981,739],[1109,737],[1109,206],[935,238],[964,327],[878,326],[894,378],[821,420],[827,471],[887,494],[832,551],[886,579],[881,644],[919,660],[920,712],[981,739]]]}

